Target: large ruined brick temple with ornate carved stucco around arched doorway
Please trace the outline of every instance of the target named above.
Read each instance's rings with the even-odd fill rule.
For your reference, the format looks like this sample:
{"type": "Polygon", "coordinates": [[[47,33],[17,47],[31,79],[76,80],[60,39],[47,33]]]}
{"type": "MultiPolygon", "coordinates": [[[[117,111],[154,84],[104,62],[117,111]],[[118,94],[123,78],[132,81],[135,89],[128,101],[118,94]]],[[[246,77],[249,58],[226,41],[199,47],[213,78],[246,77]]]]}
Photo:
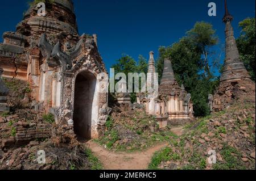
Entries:
{"type": "Polygon", "coordinates": [[[36,110],[53,113],[80,137],[97,137],[109,112],[108,94],[99,91],[108,81],[97,36],[79,35],[71,0],[47,2],[46,16],[31,5],[16,32],[3,34],[3,77],[28,81],[36,110]]]}

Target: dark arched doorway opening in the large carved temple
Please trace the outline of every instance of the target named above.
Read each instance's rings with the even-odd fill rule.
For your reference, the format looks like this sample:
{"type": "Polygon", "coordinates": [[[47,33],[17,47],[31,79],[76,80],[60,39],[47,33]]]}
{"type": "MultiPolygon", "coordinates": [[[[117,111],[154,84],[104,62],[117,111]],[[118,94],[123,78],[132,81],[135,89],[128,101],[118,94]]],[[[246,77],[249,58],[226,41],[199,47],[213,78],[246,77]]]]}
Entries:
{"type": "Polygon", "coordinates": [[[96,89],[96,77],[83,71],[76,77],[74,98],[74,131],[81,139],[92,137],[92,106],[96,89]]]}

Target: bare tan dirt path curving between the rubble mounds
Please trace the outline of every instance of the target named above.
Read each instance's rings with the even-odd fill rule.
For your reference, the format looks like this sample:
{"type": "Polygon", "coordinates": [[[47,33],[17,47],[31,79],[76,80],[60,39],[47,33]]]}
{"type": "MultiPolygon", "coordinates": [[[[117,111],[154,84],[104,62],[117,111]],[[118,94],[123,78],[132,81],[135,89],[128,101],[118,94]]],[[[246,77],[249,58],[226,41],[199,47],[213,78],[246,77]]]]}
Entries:
{"type": "Polygon", "coordinates": [[[153,154],[168,144],[156,145],[148,150],[135,153],[114,153],[96,142],[89,141],[89,148],[100,159],[107,170],[146,170],[153,154]]]}

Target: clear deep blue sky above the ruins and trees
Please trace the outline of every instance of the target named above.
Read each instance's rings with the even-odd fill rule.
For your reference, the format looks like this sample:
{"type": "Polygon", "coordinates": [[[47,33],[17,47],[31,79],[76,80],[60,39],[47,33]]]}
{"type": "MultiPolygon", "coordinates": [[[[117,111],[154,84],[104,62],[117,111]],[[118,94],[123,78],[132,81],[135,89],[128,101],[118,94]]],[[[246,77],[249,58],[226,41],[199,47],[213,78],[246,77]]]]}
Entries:
{"type": "MultiPolygon", "coordinates": [[[[15,31],[22,20],[28,0],[1,1],[0,34],[15,31]]],[[[148,52],[158,56],[159,46],[168,46],[197,21],[213,24],[224,44],[224,0],[74,0],[79,33],[98,35],[98,46],[109,69],[122,54],[135,59],[148,52]],[[215,2],[217,16],[208,16],[208,3],[215,2]]],[[[238,22],[255,17],[255,0],[228,0],[230,14],[234,16],[235,36],[240,34],[238,22]]],[[[2,37],[0,39],[2,41],[2,37]]],[[[224,55],[222,56],[222,60],[224,55]]]]}

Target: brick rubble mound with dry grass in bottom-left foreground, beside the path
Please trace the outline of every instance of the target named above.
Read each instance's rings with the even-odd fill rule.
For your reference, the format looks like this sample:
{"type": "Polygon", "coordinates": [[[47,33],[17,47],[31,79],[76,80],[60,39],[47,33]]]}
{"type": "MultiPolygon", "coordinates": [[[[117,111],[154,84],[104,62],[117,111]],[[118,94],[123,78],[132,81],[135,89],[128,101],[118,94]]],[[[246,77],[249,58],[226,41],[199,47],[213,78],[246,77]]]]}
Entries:
{"type": "Polygon", "coordinates": [[[0,170],[99,169],[99,163],[95,165],[96,163],[90,162],[89,154],[90,152],[81,145],[73,148],[67,146],[56,147],[50,141],[31,141],[27,146],[10,149],[6,153],[0,150],[0,170]],[[38,162],[39,150],[45,152],[46,162],[38,162]]]}

